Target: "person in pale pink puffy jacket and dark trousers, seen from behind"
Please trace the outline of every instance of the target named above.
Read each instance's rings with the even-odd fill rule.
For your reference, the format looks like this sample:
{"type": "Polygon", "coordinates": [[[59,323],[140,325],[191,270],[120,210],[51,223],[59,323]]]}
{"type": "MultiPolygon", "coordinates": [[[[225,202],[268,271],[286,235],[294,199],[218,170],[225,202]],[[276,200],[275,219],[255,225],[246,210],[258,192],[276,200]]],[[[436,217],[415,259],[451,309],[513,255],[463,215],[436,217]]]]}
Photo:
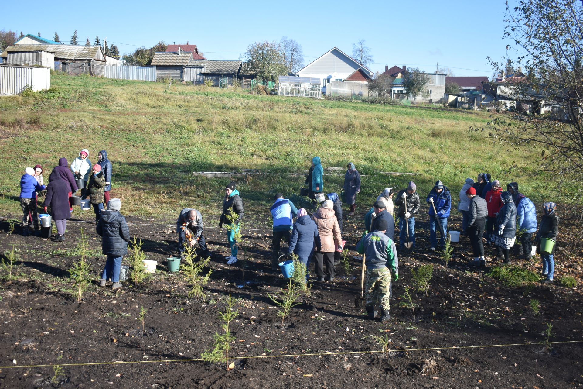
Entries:
{"type": "Polygon", "coordinates": [[[338,220],[334,216],[333,205],[332,201],[326,200],[312,215],[312,220],[318,227],[318,235],[320,237],[320,244],[316,246],[316,252],[314,253],[315,272],[318,281],[332,281],[334,279],[336,274],[334,251],[336,251],[336,247],[342,249],[342,235],[340,234],[338,220]],[[325,271],[324,265],[326,267],[325,271]]]}

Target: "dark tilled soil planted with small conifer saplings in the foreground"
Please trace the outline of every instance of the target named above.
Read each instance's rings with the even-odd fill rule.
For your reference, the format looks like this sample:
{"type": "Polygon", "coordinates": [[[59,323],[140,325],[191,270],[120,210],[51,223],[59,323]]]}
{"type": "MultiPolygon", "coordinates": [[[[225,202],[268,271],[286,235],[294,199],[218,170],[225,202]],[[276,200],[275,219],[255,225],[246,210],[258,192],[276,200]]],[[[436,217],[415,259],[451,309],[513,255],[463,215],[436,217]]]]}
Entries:
{"type": "MultiPolygon", "coordinates": [[[[282,325],[278,309],[267,294],[285,285],[271,271],[271,234],[250,231],[248,260],[225,264],[224,231],[205,235],[215,255],[210,262],[212,282],[204,299],[187,299],[181,274],[166,272],[164,258],[175,247],[170,227],[130,225],[144,242],[149,259],[159,262],[156,274],[144,283],[124,283],[121,292],[100,289],[97,281],[76,303],[68,290],[67,270],[79,258],[72,256],[80,227],[90,235],[94,278],[105,258],[94,225],[70,222],[66,241],[53,243],[18,233],[0,235],[2,251],[15,246],[19,262],[16,280],[2,281],[0,297],[0,365],[61,365],[0,368],[2,388],[110,387],[124,388],[567,388],[583,386],[583,343],[545,342],[583,340],[581,289],[533,283],[504,288],[485,275],[489,269],[466,266],[472,257],[465,237],[455,244],[447,269],[438,254],[427,250],[426,220],[417,221],[417,250],[399,258],[400,278],[394,283],[389,322],[364,320],[354,307],[359,293],[360,261],[352,259],[360,237],[361,216],[345,222],[352,271],[337,269],[333,282],[314,282],[312,295],[302,297],[282,325]],[[356,228],[358,227],[358,228],[356,228]],[[166,232],[165,232],[166,231],[166,232]],[[405,286],[412,286],[410,269],[434,264],[429,295],[412,290],[415,314],[403,303],[405,286]],[[242,286],[240,288],[240,286],[242,286]],[[236,341],[230,356],[234,367],[207,362],[164,360],[198,359],[221,331],[217,318],[229,294],[239,316],[232,325],[236,341]],[[530,307],[538,300],[540,311],[530,307]],[[145,325],[136,321],[147,309],[145,325]],[[389,339],[388,353],[374,337],[389,339]],[[528,346],[515,344],[532,343],[528,346]],[[485,347],[513,344],[514,346],[485,347]],[[467,348],[481,345],[484,347],[467,348]],[[449,348],[431,350],[431,348],[449,348]],[[342,352],[356,352],[342,355],[342,352]],[[323,355],[300,356],[321,353],[323,355]],[[329,355],[328,355],[329,354],[329,355]],[[248,358],[259,356],[266,358],[248,358]],[[79,365],[138,361],[117,365],[79,365]],[[52,381],[51,381],[52,379],[52,381]]],[[[128,222],[150,223],[128,218],[128,222]]],[[[151,222],[153,223],[153,222],[151,222]]],[[[452,229],[459,220],[450,222],[452,229]]],[[[0,227],[8,229],[8,223],[0,227]]],[[[285,246],[285,245],[284,245],[285,246]]],[[[492,251],[491,248],[488,249],[492,251]]],[[[243,256],[241,253],[240,258],[243,256]]],[[[561,262],[557,275],[580,274],[580,258],[561,262]]],[[[540,260],[515,263],[540,272],[540,260]]],[[[489,262],[488,266],[491,266],[489,262]]],[[[312,272],[313,274],[313,272],[312,272]]],[[[5,272],[2,274],[5,275],[5,272]]]]}

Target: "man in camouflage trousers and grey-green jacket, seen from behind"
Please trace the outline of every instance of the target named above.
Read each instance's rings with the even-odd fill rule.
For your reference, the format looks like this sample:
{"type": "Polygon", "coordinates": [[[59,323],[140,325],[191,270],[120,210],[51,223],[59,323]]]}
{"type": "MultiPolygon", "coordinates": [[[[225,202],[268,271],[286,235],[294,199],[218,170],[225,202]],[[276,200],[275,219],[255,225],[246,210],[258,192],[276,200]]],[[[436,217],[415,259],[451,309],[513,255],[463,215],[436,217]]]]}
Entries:
{"type": "Polygon", "coordinates": [[[391,273],[394,281],[397,281],[399,279],[399,262],[394,241],[385,235],[387,221],[381,219],[376,224],[376,230],[371,233],[364,232],[362,239],[356,246],[356,251],[365,256],[368,318],[374,320],[374,307],[380,304],[380,320],[387,321],[391,318],[389,314],[391,273]]]}

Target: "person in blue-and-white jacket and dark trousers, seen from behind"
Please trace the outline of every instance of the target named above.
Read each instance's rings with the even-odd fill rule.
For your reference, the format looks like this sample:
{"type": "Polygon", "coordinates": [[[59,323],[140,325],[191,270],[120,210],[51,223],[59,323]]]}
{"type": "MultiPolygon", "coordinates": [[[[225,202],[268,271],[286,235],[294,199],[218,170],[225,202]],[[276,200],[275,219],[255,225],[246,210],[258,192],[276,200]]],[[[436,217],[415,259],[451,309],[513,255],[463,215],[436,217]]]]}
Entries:
{"type": "Polygon", "coordinates": [[[269,208],[269,212],[271,212],[271,217],[273,219],[271,269],[278,270],[279,248],[282,239],[284,239],[289,245],[292,228],[291,225],[293,224],[293,218],[297,215],[297,208],[293,205],[293,202],[283,198],[283,194],[281,193],[275,194],[273,198],[275,202],[271,208],[269,208]]]}

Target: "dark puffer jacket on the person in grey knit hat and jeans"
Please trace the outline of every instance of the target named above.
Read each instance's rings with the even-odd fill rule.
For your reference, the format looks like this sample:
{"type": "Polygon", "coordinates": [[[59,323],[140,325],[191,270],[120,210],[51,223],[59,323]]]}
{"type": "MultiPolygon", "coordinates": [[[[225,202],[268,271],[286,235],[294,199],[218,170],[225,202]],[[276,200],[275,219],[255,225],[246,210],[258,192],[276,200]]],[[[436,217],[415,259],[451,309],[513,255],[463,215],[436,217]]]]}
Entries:
{"type": "Polygon", "coordinates": [[[103,254],[121,257],[128,254],[128,225],[120,211],[101,211],[97,234],[102,237],[103,254]]]}

